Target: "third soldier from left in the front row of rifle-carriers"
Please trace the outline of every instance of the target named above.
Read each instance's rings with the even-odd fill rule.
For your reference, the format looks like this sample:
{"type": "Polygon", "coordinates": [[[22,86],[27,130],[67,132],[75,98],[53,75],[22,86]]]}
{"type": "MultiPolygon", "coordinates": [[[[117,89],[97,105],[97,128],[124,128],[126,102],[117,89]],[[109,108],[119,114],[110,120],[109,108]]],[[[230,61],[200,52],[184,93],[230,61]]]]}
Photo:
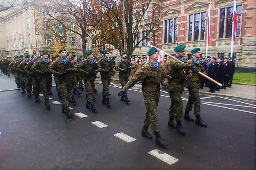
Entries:
{"type": "Polygon", "coordinates": [[[111,72],[107,71],[109,64],[111,63],[111,59],[109,58],[109,51],[104,50],[103,52],[103,58],[102,62],[99,63],[99,66],[103,69],[101,71],[101,82],[103,85],[103,99],[102,104],[106,104],[108,108],[111,108],[111,104],[109,103],[109,85],[110,85],[110,79],[111,79],[111,72],[115,72],[115,66],[112,64],[111,72]]]}

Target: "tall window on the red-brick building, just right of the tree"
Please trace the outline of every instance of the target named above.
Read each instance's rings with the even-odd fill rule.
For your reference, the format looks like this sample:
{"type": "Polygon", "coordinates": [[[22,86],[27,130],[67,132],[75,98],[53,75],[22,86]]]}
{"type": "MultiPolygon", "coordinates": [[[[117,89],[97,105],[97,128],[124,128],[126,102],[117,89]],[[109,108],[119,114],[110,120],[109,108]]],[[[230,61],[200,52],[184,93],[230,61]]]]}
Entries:
{"type": "Polygon", "coordinates": [[[178,18],[172,18],[165,20],[165,38],[164,43],[175,43],[177,42],[178,36],[178,18]],[[167,31],[168,28],[168,31],[167,31]],[[168,39],[168,40],[167,40],[168,39]]]}

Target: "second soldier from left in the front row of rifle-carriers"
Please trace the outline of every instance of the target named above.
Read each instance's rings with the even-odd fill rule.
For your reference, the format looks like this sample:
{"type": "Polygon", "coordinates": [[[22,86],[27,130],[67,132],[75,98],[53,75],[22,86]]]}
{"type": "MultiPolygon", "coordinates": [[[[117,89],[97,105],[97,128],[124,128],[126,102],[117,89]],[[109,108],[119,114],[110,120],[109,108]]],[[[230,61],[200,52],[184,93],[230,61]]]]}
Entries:
{"type": "MultiPolygon", "coordinates": [[[[88,50],[86,54],[87,58],[83,60],[83,63],[81,63],[78,67],[83,69],[86,72],[90,72],[90,70],[96,65],[96,62],[94,60],[93,51],[88,50]]],[[[96,75],[98,72],[101,72],[102,68],[97,65],[96,69],[91,70],[91,73],[88,75],[84,75],[84,86],[86,89],[86,108],[92,108],[93,111],[96,111],[97,108],[94,106],[94,99],[93,99],[93,83],[95,81],[94,75],[96,75]]]]}

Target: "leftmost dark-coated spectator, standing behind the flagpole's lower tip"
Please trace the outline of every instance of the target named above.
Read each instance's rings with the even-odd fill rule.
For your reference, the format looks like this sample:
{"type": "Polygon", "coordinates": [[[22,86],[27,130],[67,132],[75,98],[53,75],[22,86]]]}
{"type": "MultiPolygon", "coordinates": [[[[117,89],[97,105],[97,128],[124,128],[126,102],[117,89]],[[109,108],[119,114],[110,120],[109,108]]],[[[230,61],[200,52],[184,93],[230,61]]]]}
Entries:
{"type": "MultiPolygon", "coordinates": [[[[207,68],[207,75],[209,77],[211,77],[212,79],[214,79],[214,80],[216,80],[216,68],[217,68],[216,58],[212,57],[211,64],[207,68]]],[[[215,83],[213,83],[211,81],[208,81],[208,85],[209,85],[209,88],[210,88],[209,92],[214,93],[215,89],[216,89],[215,83]]]]}

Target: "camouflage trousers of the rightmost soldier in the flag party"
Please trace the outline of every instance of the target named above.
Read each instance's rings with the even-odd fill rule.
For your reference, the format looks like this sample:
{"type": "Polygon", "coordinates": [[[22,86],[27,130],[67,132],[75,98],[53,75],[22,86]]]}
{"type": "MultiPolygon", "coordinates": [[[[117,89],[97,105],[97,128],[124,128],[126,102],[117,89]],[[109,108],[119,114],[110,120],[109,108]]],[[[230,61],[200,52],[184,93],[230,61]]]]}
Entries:
{"type": "Polygon", "coordinates": [[[192,107],[194,104],[194,115],[200,115],[200,103],[201,99],[199,96],[198,88],[188,88],[189,90],[189,100],[187,101],[187,105],[185,111],[192,111],[192,107]]]}

